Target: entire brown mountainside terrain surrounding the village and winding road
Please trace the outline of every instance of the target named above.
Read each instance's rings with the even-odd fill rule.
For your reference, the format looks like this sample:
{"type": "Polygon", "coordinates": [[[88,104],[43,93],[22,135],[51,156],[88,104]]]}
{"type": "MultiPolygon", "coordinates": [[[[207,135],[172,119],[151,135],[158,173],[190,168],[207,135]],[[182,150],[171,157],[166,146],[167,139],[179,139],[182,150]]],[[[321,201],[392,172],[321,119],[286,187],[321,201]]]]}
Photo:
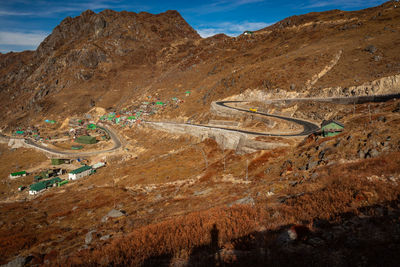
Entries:
{"type": "MultiPolygon", "coordinates": [[[[398,265],[400,101],[260,100],[373,94],[362,84],[383,77],[392,83],[378,91],[398,92],[399,12],[387,2],[202,39],[175,11],[86,11],[63,20],[36,51],[0,54],[5,133],[93,107],[140,106],[149,96],[184,100],[149,117],[155,121],[298,130],[210,110],[212,101],[252,96],[247,108],[345,124],[336,137],[256,137],[289,146],[248,154],[146,124],[115,126],[124,148],[92,158],[104,156],[106,167],[26,200],[17,187],[32,175],[7,176],[48,168],[49,160],[1,144],[0,264],[19,256],[51,266],[398,265]]],[[[57,127],[41,130],[52,135],[57,127]]]]}

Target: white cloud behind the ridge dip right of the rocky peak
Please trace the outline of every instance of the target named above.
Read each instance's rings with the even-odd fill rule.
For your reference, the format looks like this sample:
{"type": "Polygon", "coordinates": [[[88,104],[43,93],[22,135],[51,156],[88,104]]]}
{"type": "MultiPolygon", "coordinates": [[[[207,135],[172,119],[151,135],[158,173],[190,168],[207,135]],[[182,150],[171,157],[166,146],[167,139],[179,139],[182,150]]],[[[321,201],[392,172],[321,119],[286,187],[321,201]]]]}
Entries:
{"type": "Polygon", "coordinates": [[[248,21],[241,23],[223,22],[215,24],[211,27],[200,26],[197,29],[197,32],[203,38],[210,37],[218,33],[225,33],[229,36],[237,36],[242,34],[244,31],[256,31],[269,25],[272,25],[272,23],[248,21]]]}

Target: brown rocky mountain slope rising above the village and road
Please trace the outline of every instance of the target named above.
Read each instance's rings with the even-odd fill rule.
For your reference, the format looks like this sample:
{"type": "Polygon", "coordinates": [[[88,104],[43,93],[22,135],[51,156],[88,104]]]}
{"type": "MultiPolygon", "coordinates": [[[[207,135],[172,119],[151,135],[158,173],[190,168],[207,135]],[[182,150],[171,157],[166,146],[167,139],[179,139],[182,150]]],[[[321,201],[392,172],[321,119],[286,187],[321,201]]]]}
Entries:
{"type": "Polygon", "coordinates": [[[86,11],[63,20],[36,51],[0,56],[1,121],[80,114],[93,105],[121,108],[186,90],[193,97],[170,113],[196,116],[212,100],[246,89],[318,94],[361,85],[399,72],[399,30],[392,2],[294,16],[252,36],[207,39],[175,11],[86,11]]]}

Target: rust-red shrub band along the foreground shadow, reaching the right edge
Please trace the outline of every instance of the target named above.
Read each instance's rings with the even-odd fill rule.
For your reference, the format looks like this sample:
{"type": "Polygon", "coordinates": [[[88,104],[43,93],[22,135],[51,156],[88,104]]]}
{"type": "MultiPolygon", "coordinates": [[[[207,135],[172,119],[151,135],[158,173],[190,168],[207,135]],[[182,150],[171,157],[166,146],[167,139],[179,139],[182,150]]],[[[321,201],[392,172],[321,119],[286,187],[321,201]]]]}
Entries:
{"type": "Polygon", "coordinates": [[[82,251],[68,263],[82,264],[90,259],[91,263],[102,265],[137,265],[150,257],[190,251],[210,244],[213,224],[219,229],[222,245],[247,236],[260,226],[275,230],[284,225],[312,222],[315,218],[335,221],[340,214],[357,213],[359,208],[396,199],[399,185],[369,182],[365,177],[372,173],[399,173],[398,158],[391,155],[347,164],[340,169],[332,167],[321,174],[320,189],[288,199],[274,208],[213,208],[148,225],[93,252],[82,251]]]}

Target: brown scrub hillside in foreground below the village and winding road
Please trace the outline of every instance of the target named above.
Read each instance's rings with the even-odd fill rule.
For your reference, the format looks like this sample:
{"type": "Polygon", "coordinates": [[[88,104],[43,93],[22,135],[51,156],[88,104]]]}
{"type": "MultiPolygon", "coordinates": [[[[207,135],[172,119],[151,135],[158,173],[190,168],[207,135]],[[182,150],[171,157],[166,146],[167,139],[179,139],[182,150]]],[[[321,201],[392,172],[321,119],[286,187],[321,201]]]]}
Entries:
{"type": "MultiPolygon", "coordinates": [[[[399,120],[392,112],[398,105],[372,104],[371,122],[368,104],[357,105],[355,115],[341,111],[346,131],[337,137],[247,155],[224,152],[209,139],[136,129],[132,136],[146,136],[135,139],[142,154],[118,157],[96,175],[32,201],[1,204],[2,257],[25,251],[33,262],[62,265],[209,265],[219,260],[215,224],[226,263],[289,264],[286,256],[299,253],[304,265],[357,263],[354,254],[374,262],[374,255],[397,249],[400,155],[391,125],[399,120]],[[155,153],[154,145],[165,154],[155,153]],[[208,168],[195,147],[204,150],[208,168]],[[360,148],[379,154],[360,159],[360,148]],[[304,169],[321,151],[322,161],[304,169]],[[114,207],[126,216],[102,221],[114,207]],[[282,235],[291,225],[307,230],[285,243],[282,235]],[[85,249],[92,230],[94,241],[85,249]],[[366,253],[370,247],[375,254],[366,253]],[[329,256],[333,252],[338,258],[329,256]]],[[[385,260],[393,265],[395,259],[385,260]]]]}

